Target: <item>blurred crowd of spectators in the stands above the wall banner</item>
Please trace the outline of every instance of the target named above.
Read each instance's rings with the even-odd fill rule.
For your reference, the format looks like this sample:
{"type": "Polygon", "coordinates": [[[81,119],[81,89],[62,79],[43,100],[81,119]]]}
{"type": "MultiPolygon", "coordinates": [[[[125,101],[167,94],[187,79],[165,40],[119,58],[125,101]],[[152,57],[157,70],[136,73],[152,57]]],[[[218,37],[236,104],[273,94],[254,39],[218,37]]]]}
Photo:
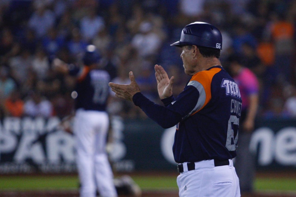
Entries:
{"type": "MultiPolygon", "coordinates": [[[[160,103],[154,65],[184,88],[178,47],[182,28],[195,21],[223,35],[222,66],[238,53],[260,81],[261,117],[296,117],[295,0],[1,0],[0,115],[65,117],[73,110],[75,81],[52,67],[54,58],[81,65],[88,44],[115,83],[133,71],[141,92],[160,103]]],[[[146,118],[131,102],[112,95],[108,111],[146,118]]]]}

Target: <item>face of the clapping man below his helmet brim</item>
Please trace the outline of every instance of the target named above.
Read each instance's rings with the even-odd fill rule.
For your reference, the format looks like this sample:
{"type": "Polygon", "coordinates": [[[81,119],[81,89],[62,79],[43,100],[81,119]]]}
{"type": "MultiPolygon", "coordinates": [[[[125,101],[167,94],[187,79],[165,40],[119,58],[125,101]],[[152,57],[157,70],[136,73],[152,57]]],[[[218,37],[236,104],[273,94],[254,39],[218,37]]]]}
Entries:
{"type": "Polygon", "coordinates": [[[186,75],[194,75],[196,72],[193,64],[192,50],[192,46],[182,46],[181,59],[183,61],[183,67],[186,75]]]}

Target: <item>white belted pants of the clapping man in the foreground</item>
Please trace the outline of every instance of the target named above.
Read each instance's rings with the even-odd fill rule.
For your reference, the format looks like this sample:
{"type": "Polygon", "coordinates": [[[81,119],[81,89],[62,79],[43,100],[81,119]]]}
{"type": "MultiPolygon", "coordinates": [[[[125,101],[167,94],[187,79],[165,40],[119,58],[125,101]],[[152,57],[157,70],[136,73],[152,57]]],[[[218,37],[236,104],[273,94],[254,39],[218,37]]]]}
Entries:
{"type": "Polygon", "coordinates": [[[214,166],[214,160],[195,162],[195,170],[184,172],[177,177],[180,197],[239,197],[239,179],[232,160],[227,166],[214,166]]]}

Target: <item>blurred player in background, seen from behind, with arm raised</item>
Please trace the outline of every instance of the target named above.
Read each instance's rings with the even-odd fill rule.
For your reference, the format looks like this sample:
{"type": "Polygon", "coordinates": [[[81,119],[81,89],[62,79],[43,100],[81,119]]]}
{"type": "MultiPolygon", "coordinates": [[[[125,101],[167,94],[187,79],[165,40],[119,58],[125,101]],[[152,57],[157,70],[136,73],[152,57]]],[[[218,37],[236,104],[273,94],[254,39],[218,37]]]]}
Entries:
{"type": "Polygon", "coordinates": [[[87,46],[82,68],[54,60],[57,69],[76,76],[73,132],[77,140],[77,167],[80,178],[80,196],[94,197],[99,190],[102,197],[118,196],[113,173],[106,153],[109,116],[106,110],[109,96],[107,71],[99,69],[100,56],[94,45],[87,46]]]}

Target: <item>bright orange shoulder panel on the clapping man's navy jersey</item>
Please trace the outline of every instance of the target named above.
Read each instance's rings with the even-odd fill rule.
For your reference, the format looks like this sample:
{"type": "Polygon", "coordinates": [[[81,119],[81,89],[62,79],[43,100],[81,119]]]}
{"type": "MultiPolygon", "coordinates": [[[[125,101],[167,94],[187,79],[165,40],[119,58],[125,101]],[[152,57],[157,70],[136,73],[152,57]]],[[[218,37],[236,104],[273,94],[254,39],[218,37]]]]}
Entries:
{"type": "MultiPolygon", "coordinates": [[[[212,98],[211,95],[211,83],[214,75],[218,73],[221,68],[212,68],[210,70],[204,70],[201,72],[196,73],[190,79],[190,81],[197,81],[202,84],[203,88],[205,89],[206,99],[205,104],[198,110],[200,111],[206,104],[208,104],[212,98]]],[[[198,112],[196,111],[196,112],[198,112]]],[[[196,112],[192,113],[191,115],[195,114],[196,112]]]]}

